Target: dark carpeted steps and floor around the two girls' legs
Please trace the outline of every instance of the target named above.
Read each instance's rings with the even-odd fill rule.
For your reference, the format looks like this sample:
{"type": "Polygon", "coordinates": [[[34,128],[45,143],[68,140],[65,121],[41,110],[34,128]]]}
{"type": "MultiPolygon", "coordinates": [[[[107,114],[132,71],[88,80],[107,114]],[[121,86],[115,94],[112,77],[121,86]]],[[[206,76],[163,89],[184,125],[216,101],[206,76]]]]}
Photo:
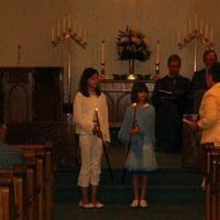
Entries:
{"type": "Polygon", "coordinates": [[[113,173],[112,185],[106,163],[101,175],[99,198],[106,204],[102,210],[78,208],[80,194],[77,176],[79,167],[73,170],[56,172],[54,186],[55,220],[202,220],[205,216],[204,193],[200,189],[202,175],[180,168],[180,154],[156,153],[158,169],[150,175],[147,209],[131,209],[131,176],[127,175],[121,185],[124,150],[111,148],[109,152],[113,173]]]}

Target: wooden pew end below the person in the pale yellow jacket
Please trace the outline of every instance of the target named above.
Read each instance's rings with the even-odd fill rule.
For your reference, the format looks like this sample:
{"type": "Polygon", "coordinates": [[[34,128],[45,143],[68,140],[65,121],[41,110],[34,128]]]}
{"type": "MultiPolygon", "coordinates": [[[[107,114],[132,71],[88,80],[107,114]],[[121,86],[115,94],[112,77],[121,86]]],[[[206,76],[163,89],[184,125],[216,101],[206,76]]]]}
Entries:
{"type": "Polygon", "coordinates": [[[220,150],[207,146],[206,220],[220,220],[220,150]]]}

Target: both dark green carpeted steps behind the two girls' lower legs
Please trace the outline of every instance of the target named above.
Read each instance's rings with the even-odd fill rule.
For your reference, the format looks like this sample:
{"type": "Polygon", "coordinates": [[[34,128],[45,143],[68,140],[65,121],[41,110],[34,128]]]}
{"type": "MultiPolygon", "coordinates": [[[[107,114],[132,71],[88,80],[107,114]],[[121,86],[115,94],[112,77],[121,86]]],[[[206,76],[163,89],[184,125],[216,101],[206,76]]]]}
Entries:
{"type": "MultiPolygon", "coordinates": [[[[79,169],[56,172],[54,201],[57,204],[77,204],[80,198],[77,177],[79,169]]],[[[108,169],[101,174],[99,197],[106,204],[129,204],[132,199],[131,175],[121,184],[122,169],[113,169],[116,182],[112,184],[108,169]]],[[[205,201],[201,190],[202,175],[184,169],[157,169],[150,175],[147,199],[157,205],[188,205],[205,201]]]]}

